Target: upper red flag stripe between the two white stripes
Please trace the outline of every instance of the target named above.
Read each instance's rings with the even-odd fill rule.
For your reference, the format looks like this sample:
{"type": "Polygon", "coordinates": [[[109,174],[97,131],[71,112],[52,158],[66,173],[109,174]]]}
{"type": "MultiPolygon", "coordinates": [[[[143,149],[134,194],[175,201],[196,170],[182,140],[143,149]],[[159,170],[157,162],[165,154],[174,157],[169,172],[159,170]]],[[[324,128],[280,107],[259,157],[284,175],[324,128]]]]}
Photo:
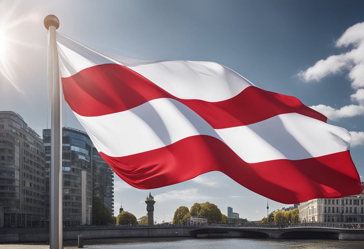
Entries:
{"type": "Polygon", "coordinates": [[[207,102],[180,99],[142,75],[118,64],[86,68],[62,78],[63,94],[71,109],[82,116],[126,111],[153,99],[171,98],[185,104],[214,129],[249,125],[285,113],[296,112],[326,122],[327,118],[295,97],[250,86],[233,98],[207,102]]]}

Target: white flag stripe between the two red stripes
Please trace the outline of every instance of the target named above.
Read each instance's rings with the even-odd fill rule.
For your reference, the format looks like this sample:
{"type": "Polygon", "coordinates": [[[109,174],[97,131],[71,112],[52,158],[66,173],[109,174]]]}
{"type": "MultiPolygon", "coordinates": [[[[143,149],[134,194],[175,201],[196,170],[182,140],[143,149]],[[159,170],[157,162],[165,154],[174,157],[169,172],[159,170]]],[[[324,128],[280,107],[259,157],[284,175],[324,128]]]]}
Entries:
{"type": "Polygon", "coordinates": [[[195,135],[220,139],[248,163],[320,157],[348,150],[351,142],[347,130],[297,113],[214,130],[193,110],[168,98],[114,114],[75,115],[98,151],[111,157],[158,149],[195,135]]]}

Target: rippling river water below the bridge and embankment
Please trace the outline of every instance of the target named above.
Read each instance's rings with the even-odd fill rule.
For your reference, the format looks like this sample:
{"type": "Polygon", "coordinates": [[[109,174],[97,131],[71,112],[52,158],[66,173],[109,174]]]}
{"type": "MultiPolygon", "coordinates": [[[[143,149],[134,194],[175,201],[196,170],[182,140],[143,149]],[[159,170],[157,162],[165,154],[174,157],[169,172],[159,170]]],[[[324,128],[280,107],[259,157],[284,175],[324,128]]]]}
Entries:
{"type": "MultiPolygon", "coordinates": [[[[119,238],[84,240],[88,249],[363,249],[364,241],[269,238],[119,238]]],[[[64,249],[77,241],[64,241],[64,249]]],[[[0,249],[49,249],[44,244],[0,244],[0,249]]]]}

